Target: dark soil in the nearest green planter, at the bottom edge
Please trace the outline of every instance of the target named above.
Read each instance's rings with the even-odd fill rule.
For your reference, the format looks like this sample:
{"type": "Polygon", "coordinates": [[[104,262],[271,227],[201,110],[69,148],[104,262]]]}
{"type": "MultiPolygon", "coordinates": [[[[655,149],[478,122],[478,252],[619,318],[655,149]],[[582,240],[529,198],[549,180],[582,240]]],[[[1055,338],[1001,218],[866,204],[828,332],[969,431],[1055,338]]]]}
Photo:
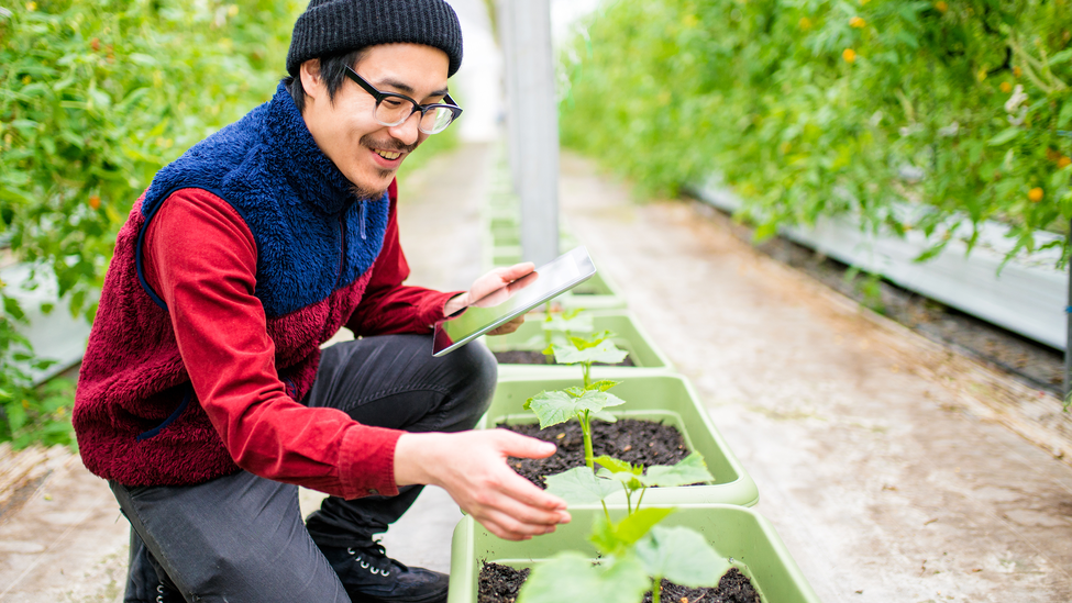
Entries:
{"type": "MultiPolygon", "coordinates": [[[[517,601],[521,584],[529,578],[529,568],[513,569],[498,563],[484,563],[480,568],[479,592],[477,603],[513,603],[517,601]]],[[[752,587],[752,582],[737,568],[730,568],[718,581],[718,587],[710,589],[689,589],[675,584],[670,580],[662,581],[660,601],[667,603],[761,603],[760,593],[752,587]]],[[[643,603],[651,603],[651,591],[644,594],[643,603]]]]}

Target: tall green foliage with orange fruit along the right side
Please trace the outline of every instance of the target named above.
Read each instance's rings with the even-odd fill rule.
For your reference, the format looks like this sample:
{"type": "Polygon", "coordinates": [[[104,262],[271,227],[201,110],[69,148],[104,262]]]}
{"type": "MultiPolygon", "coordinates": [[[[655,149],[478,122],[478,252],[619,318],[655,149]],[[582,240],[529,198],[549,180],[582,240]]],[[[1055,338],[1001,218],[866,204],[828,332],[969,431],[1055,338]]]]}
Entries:
{"type": "Polygon", "coordinates": [[[721,174],[759,236],[852,214],[926,259],[999,220],[1069,258],[1072,0],[619,0],[564,59],[564,144],[653,191],[721,174]]]}

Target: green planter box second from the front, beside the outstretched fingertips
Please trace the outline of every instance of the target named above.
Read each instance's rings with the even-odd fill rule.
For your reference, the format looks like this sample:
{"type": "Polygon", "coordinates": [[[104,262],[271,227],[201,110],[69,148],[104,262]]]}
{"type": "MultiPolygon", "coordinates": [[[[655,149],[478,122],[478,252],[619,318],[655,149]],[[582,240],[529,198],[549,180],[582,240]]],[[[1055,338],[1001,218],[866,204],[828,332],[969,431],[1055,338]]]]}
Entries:
{"type": "MultiPolygon", "coordinates": [[[[499,379],[491,399],[491,406],[480,418],[477,428],[494,428],[500,423],[535,423],[537,417],[522,406],[529,398],[544,390],[561,390],[579,386],[577,378],[531,379],[513,377],[499,379]]],[[[607,409],[622,418],[661,421],[682,433],[689,450],[704,455],[707,468],[715,476],[715,483],[683,488],[651,488],[644,494],[645,505],[711,504],[725,503],[751,506],[759,502],[755,482],[733,456],[722,435],[715,428],[710,416],[699,403],[696,391],[679,375],[630,373],[629,369],[593,367],[593,379],[621,381],[615,395],[626,401],[620,406],[607,409]],[[599,370],[601,369],[601,370],[599,370]]],[[[608,499],[608,504],[626,504],[625,493],[608,499]]],[[[596,503],[595,507],[599,507],[596,503]]]]}

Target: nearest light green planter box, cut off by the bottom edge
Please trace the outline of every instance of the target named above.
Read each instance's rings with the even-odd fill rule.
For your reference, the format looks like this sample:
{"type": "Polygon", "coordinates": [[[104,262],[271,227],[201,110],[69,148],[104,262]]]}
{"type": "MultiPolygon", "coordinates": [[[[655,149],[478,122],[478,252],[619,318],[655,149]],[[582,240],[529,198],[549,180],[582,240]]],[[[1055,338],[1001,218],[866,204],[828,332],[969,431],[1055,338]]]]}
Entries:
{"type": "MultiPolygon", "coordinates": [[[[646,496],[644,496],[646,502],[646,496]]],[[[649,506],[645,504],[645,506],[649,506]]],[[[579,550],[596,558],[588,534],[598,509],[573,510],[573,522],[553,534],[513,543],[493,536],[472,517],[463,517],[451,543],[449,603],[475,603],[483,561],[531,567],[555,552],[579,550]]],[[[612,510],[615,521],[622,510],[612,510]]],[[[751,509],[733,505],[682,506],[661,525],[683,525],[705,535],[721,557],[737,566],[760,591],[764,603],[819,603],[774,526],[751,509]]]]}

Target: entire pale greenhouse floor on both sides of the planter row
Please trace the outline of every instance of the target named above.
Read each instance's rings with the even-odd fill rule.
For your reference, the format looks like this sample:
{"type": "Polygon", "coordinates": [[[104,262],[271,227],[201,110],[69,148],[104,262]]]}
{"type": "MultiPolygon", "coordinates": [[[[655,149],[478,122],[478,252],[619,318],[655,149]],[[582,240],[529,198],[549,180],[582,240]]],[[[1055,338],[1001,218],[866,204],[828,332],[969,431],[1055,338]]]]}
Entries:
{"type": "MultiPolygon", "coordinates": [[[[463,146],[401,182],[410,282],[478,275],[490,156],[463,146]]],[[[1072,466],[992,400],[1037,392],[755,252],[700,204],[637,202],[568,155],[561,203],[697,387],[822,601],[1072,600],[1072,466]]],[[[106,484],[62,450],[0,451],[0,484],[27,462],[0,498],[0,601],[120,601],[128,527],[106,484]]],[[[429,489],[388,550],[445,571],[458,516],[429,489]]]]}

